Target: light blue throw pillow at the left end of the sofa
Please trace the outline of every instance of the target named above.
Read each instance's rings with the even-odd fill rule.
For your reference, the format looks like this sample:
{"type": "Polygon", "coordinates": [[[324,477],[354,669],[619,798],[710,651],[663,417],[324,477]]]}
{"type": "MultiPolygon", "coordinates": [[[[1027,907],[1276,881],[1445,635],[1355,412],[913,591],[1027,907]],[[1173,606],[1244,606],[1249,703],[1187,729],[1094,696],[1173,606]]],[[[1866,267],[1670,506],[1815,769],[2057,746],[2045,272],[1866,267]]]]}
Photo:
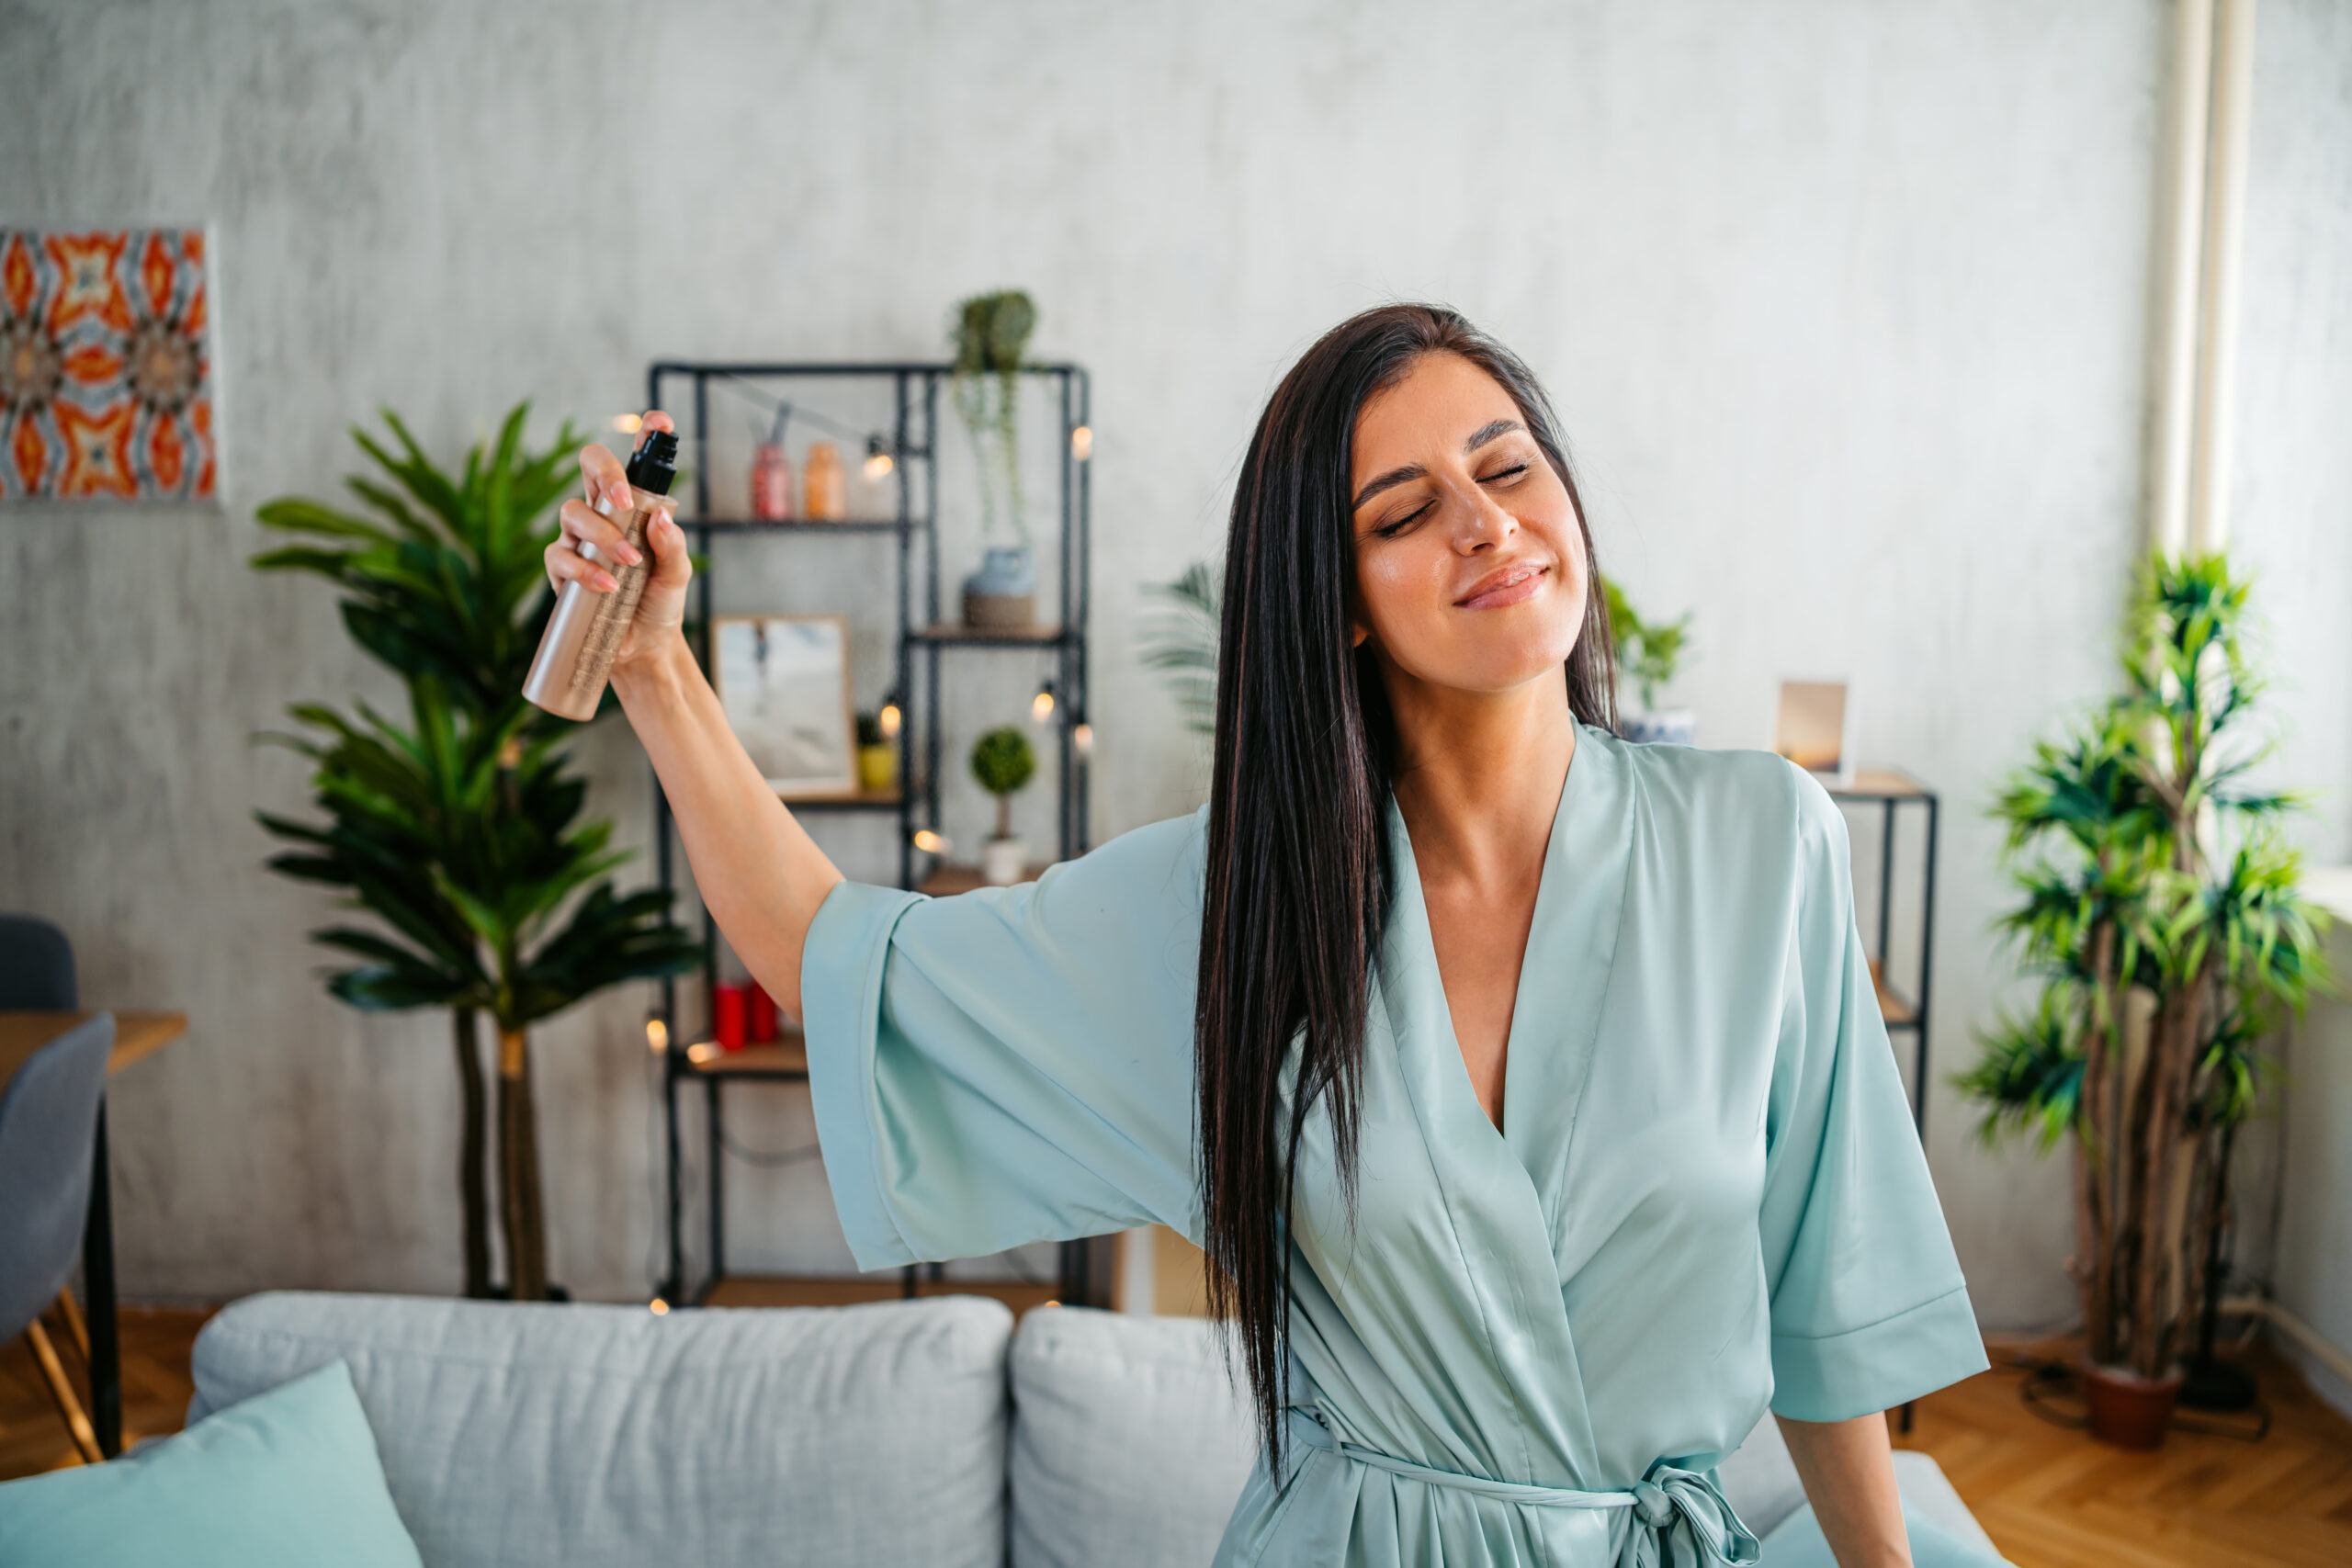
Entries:
{"type": "Polygon", "coordinates": [[[9,1568],[423,1568],[341,1361],[111,1465],[0,1486],[9,1568]]]}

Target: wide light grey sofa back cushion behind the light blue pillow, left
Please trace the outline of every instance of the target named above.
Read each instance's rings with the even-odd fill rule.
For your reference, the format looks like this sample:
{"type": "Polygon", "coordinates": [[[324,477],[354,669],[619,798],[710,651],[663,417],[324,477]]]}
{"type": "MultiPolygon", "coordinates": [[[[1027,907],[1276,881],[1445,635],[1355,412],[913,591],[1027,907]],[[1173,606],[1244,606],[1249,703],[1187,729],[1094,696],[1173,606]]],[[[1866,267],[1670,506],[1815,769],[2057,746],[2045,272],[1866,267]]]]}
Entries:
{"type": "Polygon", "coordinates": [[[256,1295],[191,1420],[343,1359],[428,1568],[1002,1563],[1011,1314],[256,1295]]]}

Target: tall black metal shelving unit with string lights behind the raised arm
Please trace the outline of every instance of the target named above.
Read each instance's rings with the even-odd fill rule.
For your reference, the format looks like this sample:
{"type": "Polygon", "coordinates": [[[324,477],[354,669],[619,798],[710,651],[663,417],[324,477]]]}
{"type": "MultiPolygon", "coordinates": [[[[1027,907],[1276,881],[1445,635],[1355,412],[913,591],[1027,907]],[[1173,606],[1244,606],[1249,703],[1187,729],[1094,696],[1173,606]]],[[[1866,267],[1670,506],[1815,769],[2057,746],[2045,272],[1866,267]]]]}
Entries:
{"type": "MultiPolygon", "coordinates": [[[[715,362],[659,360],[647,371],[647,407],[675,409],[684,418],[680,440],[691,454],[694,510],[682,517],[696,552],[708,562],[696,574],[696,611],[701,616],[701,658],[710,668],[713,578],[724,571],[724,550],[750,543],[809,543],[816,536],[894,541],[894,679],[891,696],[901,710],[898,788],[887,795],[793,802],[793,811],[889,813],[898,827],[898,886],[922,891],[960,891],[969,877],[957,877],[941,858],[917,846],[917,835],[938,830],[941,783],[941,672],[950,656],[1025,651],[1051,661],[1054,731],[1056,731],[1056,858],[1087,851],[1087,764],[1080,733],[1087,724],[1087,614],[1089,614],[1089,454],[1091,454],[1091,383],[1077,364],[1025,364],[1025,378],[1044,378],[1061,409],[1058,440],[1058,618],[1023,632],[974,630],[950,621],[941,609],[938,562],[938,395],[953,367],[943,362],[715,362]],[[666,400],[666,390],[684,386],[684,404],[666,400]],[[891,390],[891,480],[896,505],[889,517],[854,517],[844,522],[753,522],[713,517],[710,512],[710,390],[715,381],[849,381],[884,383],[891,390]]],[[[880,433],[877,433],[880,435],[880,433]]],[[[847,454],[858,461],[858,454],[847,454]]],[[[663,891],[677,889],[675,832],[668,797],[654,780],[656,875],[663,891]]],[[[708,987],[717,976],[717,922],[703,910],[703,1018],[713,1016],[708,987]]],[[[804,1081],[807,1051],[788,1034],[774,1046],[720,1051],[710,1041],[689,1039],[680,1027],[677,980],[661,983],[663,1025],[663,1128],[668,1133],[668,1274],[661,1298],[703,1305],[727,1286],[727,1185],[724,1185],[724,1091],[748,1081],[804,1081]],[[684,1246],[684,1159],[677,1119],[680,1093],[703,1093],[706,1180],[708,1180],[708,1267],[696,1286],[687,1279],[684,1246]]],[[[1110,1267],[1103,1239],[1070,1241],[1061,1248],[1056,1300],[1101,1305],[1108,1298],[1110,1267]]],[[[915,1295],[927,1279],[915,1267],[901,1272],[898,1293],[915,1295]]],[[[969,1286],[957,1286],[969,1288],[969,1286]]]]}

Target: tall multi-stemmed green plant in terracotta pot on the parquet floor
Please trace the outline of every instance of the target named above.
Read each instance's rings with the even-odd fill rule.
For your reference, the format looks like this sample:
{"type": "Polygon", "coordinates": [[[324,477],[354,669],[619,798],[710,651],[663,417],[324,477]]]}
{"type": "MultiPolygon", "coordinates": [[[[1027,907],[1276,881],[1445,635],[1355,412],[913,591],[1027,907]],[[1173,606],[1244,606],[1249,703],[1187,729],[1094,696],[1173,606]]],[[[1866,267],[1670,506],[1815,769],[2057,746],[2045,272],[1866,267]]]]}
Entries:
{"type": "MultiPolygon", "coordinates": [[[[2124,691],[2037,741],[1992,813],[2023,903],[2002,926],[2042,978],[2032,1011],[1983,1037],[1952,1081],[1980,1135],[2072,1133],[2074,1255],[2091,1429],[2154,1448],[2220,1281],[2232,1128],[2260,1044],[2326,983],[2298,858],[2298,797],[2251,783],[2260,682],[2239,630],[2249,583],[2220,555],[2150,562],[2124,691]]],[[[2209,1345],[2206,1345],[2209,1349],[2209,1345]]]]}

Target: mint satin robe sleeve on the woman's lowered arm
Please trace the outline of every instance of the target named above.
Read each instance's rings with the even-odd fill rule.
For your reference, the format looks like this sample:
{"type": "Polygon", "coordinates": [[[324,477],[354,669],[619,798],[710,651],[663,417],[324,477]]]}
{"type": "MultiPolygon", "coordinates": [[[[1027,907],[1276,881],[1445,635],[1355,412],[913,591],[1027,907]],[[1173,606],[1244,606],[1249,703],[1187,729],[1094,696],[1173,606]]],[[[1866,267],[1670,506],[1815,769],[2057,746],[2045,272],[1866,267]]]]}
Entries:
{"type": "Polygon", "coordinates": [[[1797,931],[1764,1133],[1771,1408],[1849,1420],[1985,1371],[1853,924],[1846,820],[1788,764],[1797,931]]]}

